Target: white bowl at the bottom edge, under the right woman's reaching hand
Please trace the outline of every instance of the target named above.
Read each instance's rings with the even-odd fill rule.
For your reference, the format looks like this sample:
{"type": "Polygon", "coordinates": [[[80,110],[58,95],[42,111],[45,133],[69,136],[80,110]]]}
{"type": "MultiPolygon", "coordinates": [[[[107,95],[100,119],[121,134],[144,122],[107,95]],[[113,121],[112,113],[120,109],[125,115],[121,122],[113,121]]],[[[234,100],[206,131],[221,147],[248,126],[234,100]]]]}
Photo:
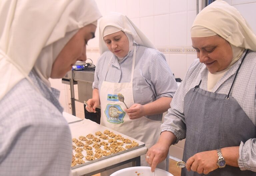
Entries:
{"type": "Polygon", "coordinates": [[[171,173],[156,168],[155,175],[154,172],[151,172],[151,167],[146,166],[137,166],[137,167],[128,167],[114,172],[110,176],[173,176],[171,173]]]}

